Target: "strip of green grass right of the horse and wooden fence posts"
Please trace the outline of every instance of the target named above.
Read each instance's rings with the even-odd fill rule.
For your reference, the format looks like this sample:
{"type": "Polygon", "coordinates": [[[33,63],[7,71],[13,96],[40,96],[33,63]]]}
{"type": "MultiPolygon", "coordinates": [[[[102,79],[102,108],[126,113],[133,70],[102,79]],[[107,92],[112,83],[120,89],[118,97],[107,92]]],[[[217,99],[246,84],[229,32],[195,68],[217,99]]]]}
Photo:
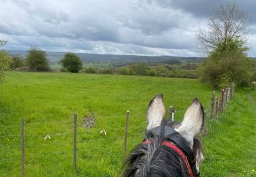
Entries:
{"type": "Polygon", "coordinates": [[[205,176],[256,176],[256,104],[248,99],[251,93],[236,91],[218,120],[207,121],[205,176]]]}

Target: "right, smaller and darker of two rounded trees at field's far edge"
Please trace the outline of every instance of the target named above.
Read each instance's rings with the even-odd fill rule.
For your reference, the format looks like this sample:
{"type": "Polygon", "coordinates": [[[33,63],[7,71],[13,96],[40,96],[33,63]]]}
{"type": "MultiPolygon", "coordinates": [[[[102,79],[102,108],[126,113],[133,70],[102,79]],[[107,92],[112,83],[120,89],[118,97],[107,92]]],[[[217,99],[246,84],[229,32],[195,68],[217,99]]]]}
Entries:
{"type": "Polygon", "coordinates": [[[78,73],[83,66],[81,59],[72,52],[67,52],[61,60],[63,68],[68,69],[72,73],[78,73]]]}

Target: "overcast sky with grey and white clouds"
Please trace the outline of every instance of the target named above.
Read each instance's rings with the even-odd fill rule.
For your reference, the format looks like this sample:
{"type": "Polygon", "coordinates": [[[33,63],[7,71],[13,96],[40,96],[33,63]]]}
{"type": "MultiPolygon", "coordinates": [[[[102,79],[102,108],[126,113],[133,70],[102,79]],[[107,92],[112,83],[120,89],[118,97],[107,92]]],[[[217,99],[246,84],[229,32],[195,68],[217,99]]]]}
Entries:
{"type": "MultiPolygon", "coordinates": [[[[223,0],[0,0],[6,49],[200,57],[195,33],[223,0]]],[[[256,1],[238,0],[251,16],[256,57],[256,1]]]]}

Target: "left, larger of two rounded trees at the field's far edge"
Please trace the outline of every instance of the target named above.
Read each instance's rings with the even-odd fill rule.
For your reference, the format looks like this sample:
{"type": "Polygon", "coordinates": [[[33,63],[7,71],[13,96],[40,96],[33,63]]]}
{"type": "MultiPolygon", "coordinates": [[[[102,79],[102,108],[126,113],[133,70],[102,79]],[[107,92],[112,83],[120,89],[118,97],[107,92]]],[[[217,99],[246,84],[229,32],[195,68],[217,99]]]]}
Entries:
{"type": "Polygon", "coordinates": [[[27,66],[31,71],[48,71],[50,69],[44,51],[31,47],[27,54],[27,66]]]}

